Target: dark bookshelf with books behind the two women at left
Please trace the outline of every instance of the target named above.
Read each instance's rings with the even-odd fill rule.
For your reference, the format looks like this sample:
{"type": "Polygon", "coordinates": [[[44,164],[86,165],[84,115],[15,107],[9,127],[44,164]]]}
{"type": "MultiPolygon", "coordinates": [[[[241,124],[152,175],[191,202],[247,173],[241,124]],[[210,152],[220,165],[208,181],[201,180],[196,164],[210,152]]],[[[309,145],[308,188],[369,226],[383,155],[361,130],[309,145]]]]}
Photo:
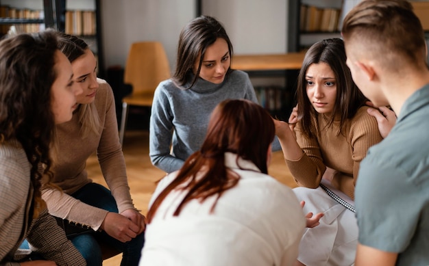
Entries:
{"type": "Polygon", "coordinates": [[[14,29],[16,33],[22,33],[47,28],[79,36],[90,45],[97,57],[98,75],[103,78],[105,70],[101,43],[100,5],[100,0],[0,0],[0,38],[8,34],[10,29],[14,29]],[[72,31],[66,31],[66,14],[77,13],[81,16],[73,22],[72,31]],[[87,22],[88,14],[90,24],[86,23],[84,28],[84,18],[87,22]]]}

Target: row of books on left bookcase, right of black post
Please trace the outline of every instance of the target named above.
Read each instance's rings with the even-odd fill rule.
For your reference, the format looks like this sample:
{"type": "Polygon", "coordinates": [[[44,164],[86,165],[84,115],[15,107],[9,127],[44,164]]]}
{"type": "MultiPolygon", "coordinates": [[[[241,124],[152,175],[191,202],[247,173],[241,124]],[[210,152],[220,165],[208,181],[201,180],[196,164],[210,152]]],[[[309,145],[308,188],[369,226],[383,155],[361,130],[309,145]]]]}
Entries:
{"type": "Polygon", "coordinates": [[[95,35],[97,23],[95,11],[92,10],[67,10],[64,32],[77,36],[95,35]]]}

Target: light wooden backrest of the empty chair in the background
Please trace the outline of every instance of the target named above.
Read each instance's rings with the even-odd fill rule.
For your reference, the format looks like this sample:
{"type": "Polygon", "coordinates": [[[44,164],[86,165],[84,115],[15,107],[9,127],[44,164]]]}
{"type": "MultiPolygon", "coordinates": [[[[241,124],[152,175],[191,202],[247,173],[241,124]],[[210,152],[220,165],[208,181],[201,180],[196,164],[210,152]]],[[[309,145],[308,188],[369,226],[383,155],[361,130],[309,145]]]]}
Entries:
{"type": "Polygon", "coordinates": [[[134,42],[124,70],[124,83],[132,94],[154,92],[160,81],[171,77],[169,59],[161,42],[134,42]]]}

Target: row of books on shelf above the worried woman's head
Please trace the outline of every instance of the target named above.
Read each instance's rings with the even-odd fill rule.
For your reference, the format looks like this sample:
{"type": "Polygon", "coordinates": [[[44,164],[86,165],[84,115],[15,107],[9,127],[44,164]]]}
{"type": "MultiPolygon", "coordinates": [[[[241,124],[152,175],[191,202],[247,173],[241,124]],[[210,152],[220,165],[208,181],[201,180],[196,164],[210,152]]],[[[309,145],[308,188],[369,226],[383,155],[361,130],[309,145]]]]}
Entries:
{"type": "Polygon", "coordinates": [[[339,30],[339,8],[319,8],[314,5],[301,5],[299,29],[306,32],[339,30]]]}

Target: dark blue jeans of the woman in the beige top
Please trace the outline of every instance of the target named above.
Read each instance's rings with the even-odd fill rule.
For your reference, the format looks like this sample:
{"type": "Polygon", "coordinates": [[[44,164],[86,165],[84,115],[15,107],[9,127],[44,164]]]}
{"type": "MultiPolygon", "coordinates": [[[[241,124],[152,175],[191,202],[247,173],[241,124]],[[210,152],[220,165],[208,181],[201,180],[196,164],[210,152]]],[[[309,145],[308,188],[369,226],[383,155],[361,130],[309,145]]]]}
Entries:
{"type": "MultiPolygon", "coordinates": [[[[112,213],[118,213],[117,203],[110,190],[97,183],[85,185],[71,194],[71,196],[91,206],[105,209],[112,213]]],[[[138,265],[138,261],[140,260],[141,250],[145,244],[145,234],[143,232],[125,243],[110,237],[106,232],[92,232],[90,234],[78,235],[70,240],[82,256],[84,256],[88,266],[101,266],[103,263],[98,241],[107,243],[123,253],[121,266],[133,266],[138,265]]]]}

